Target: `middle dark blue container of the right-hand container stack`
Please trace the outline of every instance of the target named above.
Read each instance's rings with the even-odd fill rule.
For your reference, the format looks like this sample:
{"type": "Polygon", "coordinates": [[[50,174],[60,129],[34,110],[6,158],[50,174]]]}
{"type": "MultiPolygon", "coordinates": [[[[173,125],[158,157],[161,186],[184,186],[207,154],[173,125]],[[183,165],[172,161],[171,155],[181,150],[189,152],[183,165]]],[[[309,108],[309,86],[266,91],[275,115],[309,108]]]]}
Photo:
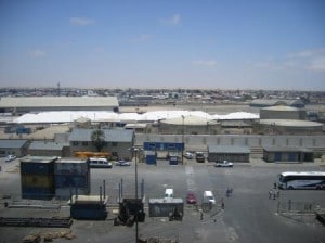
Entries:
{"type": "Polygon", "coordinates": [[[55,188],[89,188],[90,179],[86,176],[55,175],[55,188]]]}

